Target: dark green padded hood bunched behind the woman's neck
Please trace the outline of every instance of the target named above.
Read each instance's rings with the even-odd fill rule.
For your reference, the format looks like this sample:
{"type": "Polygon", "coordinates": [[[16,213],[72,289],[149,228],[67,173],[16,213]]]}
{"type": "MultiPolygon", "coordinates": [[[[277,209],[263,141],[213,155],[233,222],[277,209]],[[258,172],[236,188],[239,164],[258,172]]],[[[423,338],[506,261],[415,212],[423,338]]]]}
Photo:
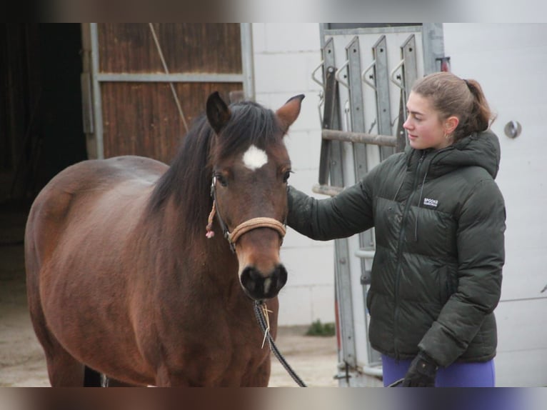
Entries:
{"type": "Polygon", "coordinates": [[[498,137],[490,130],[473,133],[448,149],[433,151],[429,176],[438,176],[465,166],[481,166],[496,179],[501,149],[498,137]]]}

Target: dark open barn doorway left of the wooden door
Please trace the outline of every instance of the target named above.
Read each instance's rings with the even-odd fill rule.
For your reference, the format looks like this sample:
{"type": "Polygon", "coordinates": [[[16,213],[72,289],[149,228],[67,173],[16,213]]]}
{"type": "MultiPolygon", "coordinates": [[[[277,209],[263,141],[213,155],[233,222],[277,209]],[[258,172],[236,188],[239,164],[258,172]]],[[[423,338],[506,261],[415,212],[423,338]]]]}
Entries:
{"type": "Polygon", "coordinates": [[[1,24],[0,204],[28,206],[86,159],[80,24],[1,24]]]}

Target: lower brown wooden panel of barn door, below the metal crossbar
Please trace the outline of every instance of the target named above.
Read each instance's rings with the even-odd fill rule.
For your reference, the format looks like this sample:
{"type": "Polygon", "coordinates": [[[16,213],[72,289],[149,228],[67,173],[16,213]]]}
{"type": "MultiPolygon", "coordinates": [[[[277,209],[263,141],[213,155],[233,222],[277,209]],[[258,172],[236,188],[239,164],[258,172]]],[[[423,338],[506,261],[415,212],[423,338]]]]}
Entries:
{"type": "MultiPolygon", "coordinates": [[[[189,126],[205,110],[205,101],[219,91],[228,101],[229,91],[241,89],[237,83],[178,83],[184,116],[189,126]]],[[[168,83],[104,83],[104,157],[149,156],[169,164],[186,134],[168,83]]]]}

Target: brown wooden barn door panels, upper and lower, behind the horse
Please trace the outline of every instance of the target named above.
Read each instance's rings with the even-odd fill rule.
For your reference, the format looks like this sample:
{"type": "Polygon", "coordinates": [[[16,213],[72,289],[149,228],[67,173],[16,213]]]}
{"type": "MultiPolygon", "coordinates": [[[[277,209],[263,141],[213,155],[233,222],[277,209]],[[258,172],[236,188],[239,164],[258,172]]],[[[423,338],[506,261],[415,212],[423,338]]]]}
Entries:
{"type": "MultiPolygon", "coordinates": [[[[241,74],[239,24],[154,24],[170,74],[241,74]]],[[[99,71],[164,74],[149,24],[99,24],[99,71]]],[[[226,101],[241,83],[175,83],[187,124],[219,91],[226,101]]],[[[169,164],[186,129],[169,83],[102,82],[105,158],[135,154],[169,164]]]]}

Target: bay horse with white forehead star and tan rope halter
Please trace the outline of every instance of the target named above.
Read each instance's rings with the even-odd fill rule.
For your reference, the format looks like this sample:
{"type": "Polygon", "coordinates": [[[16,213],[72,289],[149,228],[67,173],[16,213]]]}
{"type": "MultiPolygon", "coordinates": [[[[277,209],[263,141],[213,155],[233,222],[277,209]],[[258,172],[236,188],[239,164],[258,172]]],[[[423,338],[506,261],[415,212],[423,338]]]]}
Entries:
{"type": "Polygon", "coordinates": [[[268,385],[253,304],[266,301],[275,337],[287,280],[283,136],[302,99],[274,112],[214,92],[171,166],[87,160],[41,190],[26,282],[51,386],[83,386],[87,371],[132,386],[268,385]]]}

